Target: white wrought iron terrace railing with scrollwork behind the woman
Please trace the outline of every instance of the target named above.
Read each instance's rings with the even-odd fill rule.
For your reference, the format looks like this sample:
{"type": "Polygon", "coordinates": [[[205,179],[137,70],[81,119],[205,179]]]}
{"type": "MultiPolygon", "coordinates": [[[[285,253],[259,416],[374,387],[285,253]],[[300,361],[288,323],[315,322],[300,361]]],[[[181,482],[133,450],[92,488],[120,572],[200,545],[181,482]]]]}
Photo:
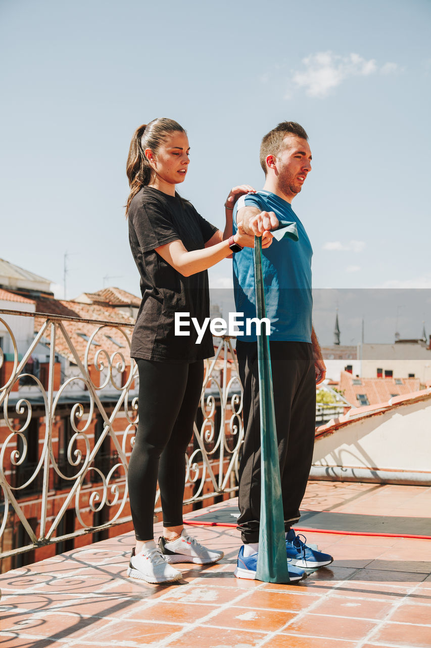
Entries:
{"type": "MultiPolygon", "coordinates": [[[[118,321],[0,309],[0,559],[131,521],[127,461],[138,423],[132,329],[118,321]],[[23,318],[37,323],[27,344],[14,334],[23,318]],[[83,323],[94,327],[80,334],[84,352],[72,339],[74,327],[83,323]],[[107,351],[107,340],[116,350],[111,345],[107,351]],[[41,349],[47,354],[43,375],[34,368],[41,349]],[[38,426],[31,424],[35,419],[38,426]],[[68,531],[64,518],[71,509],[76,520],[68,531]],[[21,546],[15,546],[19,523],[21,546]]],[[[201,421],[186,457],[184,503],[236,491],[241,410],[236,355],[230,338],[223,337],[206,361],[201,421]]],[[[159,493],[156,512],[158,500],[159,493]]]]}

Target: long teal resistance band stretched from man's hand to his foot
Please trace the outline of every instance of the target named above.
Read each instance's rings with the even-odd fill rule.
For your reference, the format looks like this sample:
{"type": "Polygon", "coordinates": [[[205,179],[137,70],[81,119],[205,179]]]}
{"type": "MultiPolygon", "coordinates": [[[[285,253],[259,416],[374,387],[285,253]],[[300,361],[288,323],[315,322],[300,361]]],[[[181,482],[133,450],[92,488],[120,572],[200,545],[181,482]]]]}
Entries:
{"type": "MultiPolygon", "coordinates": [[[[280,221],[272,234],[298,240],[296,224],[280,221]]],[[[273,243],[276,245],[276,242],[273,243]]],[[[262,276],[262,239],[254,237],[254,280],[256,282],[256,314],[266,317],[265,290],[262,276]]],[[[256,579],[265,583],[289,583],[284,530],[282,481],[278,461],[278,443],[272,391],[271,356],[265,327],[258,335],[260,440],[261,440],[261,504],[258,565],[256,579]]]]}

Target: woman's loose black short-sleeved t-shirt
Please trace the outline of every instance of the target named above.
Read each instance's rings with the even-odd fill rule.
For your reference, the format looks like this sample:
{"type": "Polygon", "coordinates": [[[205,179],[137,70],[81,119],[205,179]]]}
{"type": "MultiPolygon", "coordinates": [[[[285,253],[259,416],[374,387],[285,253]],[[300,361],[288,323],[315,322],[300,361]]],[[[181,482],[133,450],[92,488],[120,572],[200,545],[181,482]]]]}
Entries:
{"type": "Polygon", "coordinates": [[[193,205],[153,187],[142,187],[129,207],[129,242],[140,273],[142,302],[131,341],[131,356],[159,362],[196,362],[214,355],[209,327],[200,344],[199,327],[210,315],[208,273],[183,277],[155,248],[181,240],[188,251],[204,248],[216,233],[193,205]],[[175,336],[175,312],[190,313],[190,336],[175,336]]]}

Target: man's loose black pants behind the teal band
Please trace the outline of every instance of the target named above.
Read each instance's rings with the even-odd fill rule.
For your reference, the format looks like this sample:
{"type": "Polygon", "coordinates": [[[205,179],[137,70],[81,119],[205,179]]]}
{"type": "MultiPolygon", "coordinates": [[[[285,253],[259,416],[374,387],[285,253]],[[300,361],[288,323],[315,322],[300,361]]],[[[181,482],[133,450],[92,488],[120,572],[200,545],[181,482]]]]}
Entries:
{"type": "MultiPolygon", "coordinates": [[[[300,518],[313,459],[316,425],[316,373],[313,347],[306,342],[270,342],[272,386],[282,478],[285,529],[300,518]]],[[[238,528],[243,542],[258,542],[260,522],[260,401],[258,345],[237,341],[239,377],[244,388],[245,440],[239,465],[238,528]]]]}

